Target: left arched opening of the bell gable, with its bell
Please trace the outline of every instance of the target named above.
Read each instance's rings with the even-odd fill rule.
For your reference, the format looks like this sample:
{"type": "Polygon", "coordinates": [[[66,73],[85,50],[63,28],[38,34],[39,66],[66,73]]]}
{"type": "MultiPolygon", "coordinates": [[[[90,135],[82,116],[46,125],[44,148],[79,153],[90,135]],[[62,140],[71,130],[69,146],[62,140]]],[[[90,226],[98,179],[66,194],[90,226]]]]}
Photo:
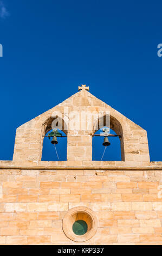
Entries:
{"type": "Polygon", "coordinates": [[[50,117],[42,125],[41,161],[67,161],[67,125],[60,117],[50,117]],[[54,131],[53,121],[56,121],[55,129],[62,135],[56,137],[57,144],[51,143],[54,137],[51,136],[49,139],[49,135],[54,131]]]}

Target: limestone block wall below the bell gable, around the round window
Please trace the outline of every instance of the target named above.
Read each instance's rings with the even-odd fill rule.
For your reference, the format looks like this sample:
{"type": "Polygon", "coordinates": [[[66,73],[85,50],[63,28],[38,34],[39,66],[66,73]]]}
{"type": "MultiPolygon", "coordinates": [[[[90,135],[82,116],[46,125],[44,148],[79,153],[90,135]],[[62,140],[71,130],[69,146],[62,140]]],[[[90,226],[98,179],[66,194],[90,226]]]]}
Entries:
{"type": "Polygon", "coordinates": [[[103,169],[0,164],[1,245],[162,245],[161,163],[139,169],[117,162],[112,168],[103,162],[103,169]],[[82,243],[62,230],[64,215],[76,206],[98,218],[95,235],[82,243]]]}

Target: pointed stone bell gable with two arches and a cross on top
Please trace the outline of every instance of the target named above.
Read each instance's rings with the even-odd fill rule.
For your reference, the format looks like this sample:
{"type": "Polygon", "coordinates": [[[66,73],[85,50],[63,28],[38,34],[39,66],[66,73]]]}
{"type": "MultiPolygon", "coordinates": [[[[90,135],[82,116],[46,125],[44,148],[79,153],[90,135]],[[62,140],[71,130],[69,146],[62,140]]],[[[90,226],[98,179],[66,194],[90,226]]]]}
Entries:
{"type": "Polygon", "coordinates": [[[109,113],[110,127],[121,137],[122,161],[135,162],[137,165],[150,161],[147,132],[87,92],[85,88],[80,87],[80,92],[17,128],[13,156],[15,163],[30,161],[38,164],[41,161],[43,136],[51,130],[55,116],[62,119],[62,130],[67,135],[67,161],[92,161],[92,138],[99,120],[95,120],[96,123],[94,122],[90,129],[87,127],[87,120],[86,129],[82,130],[80,118],[80,129],[74,132],[71,128],[73,122],[71,113],[76,112],[81,115],[83,111],[103,113],[102,115],[109,113]]]}

